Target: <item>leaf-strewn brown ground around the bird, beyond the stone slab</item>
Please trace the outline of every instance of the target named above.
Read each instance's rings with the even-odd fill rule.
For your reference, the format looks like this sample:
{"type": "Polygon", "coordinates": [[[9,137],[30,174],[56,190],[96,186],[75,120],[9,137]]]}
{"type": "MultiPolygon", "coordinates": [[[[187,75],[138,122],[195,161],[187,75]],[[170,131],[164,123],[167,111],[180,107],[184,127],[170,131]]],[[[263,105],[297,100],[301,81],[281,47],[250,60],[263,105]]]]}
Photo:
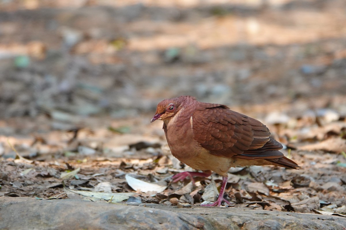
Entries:
{"type": "Polygon", "coordinates": [[[192,95],[264,122],[301,167],[231,169],[231,206],[345,217],[345,12],[344,0],[0,1],[0,200],[211,201],[221,177],[171,183],[189,167],[150,123],[162,99],[192,95]],[[133,189],[127,174],[165,188],[133,189]]]}

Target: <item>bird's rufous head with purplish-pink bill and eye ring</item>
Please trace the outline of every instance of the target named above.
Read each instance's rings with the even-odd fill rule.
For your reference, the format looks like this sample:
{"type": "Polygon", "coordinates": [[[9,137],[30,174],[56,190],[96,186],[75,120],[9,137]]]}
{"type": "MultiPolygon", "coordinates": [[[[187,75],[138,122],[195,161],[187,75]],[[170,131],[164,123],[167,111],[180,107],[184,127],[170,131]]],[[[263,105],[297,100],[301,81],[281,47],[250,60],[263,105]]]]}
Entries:
{"type": "Polygon", "coordinates": [[[189,100],[196,100],[194,97],[191,96],[180,96],[177,98],[171,98],[171,99],[165,99],[158,103],[156,108],[156,114],[151,119],[151,122],[155,120],[170,120],[172,119],[177,112],[179,112],[184,105],[186,104],[186,101],[189,100]]]}

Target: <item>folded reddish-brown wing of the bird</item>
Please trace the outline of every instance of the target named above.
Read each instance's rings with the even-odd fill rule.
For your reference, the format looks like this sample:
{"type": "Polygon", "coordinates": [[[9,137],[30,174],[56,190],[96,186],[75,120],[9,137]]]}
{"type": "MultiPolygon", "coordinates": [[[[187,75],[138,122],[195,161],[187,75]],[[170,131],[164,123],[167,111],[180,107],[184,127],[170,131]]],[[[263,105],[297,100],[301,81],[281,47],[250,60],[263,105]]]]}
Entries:
{"type": "Polygon", "coordinates": [[[200,103],[192,115],[193,134],[211,154],[243,159],[282,157],[282,145],[260,121],[221,104],[200,103]]]}

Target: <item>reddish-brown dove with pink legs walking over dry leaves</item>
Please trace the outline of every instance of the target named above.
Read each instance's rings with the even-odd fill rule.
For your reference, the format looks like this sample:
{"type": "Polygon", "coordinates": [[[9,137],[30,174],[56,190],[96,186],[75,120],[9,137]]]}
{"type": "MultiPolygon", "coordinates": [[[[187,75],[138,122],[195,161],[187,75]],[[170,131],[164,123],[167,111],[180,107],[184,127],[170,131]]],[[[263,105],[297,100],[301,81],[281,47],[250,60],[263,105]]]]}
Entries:
{"type": "Polygon", "coordinates": [[[282,144],[271,137],[269,129],[260,121],[230,110],[224,104],[204,103],[192,96],[165,99],[158,103],[155,120],[163,121],[163,130],[171,153],[179,161],[202,172],[175,174],[173,182],[194,176],[209,177],[213,172],[222,176],[217,206],[224,198],[231,167],[275,165],[298,169],[286,158],[282,144]]]}

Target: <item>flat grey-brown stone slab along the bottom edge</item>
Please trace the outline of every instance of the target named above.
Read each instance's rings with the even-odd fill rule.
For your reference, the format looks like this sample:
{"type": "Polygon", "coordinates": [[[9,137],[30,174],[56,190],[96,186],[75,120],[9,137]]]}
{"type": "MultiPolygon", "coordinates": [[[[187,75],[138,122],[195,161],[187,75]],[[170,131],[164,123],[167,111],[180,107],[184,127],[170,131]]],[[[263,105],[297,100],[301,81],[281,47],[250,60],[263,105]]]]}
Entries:
{"type": "Polygon", "coordinates": [[[343,229],[346,218],[193,206],[0,198],[0,229],[343,229]],[[17,200],[17,201],[16,201],[17,200]]]}

